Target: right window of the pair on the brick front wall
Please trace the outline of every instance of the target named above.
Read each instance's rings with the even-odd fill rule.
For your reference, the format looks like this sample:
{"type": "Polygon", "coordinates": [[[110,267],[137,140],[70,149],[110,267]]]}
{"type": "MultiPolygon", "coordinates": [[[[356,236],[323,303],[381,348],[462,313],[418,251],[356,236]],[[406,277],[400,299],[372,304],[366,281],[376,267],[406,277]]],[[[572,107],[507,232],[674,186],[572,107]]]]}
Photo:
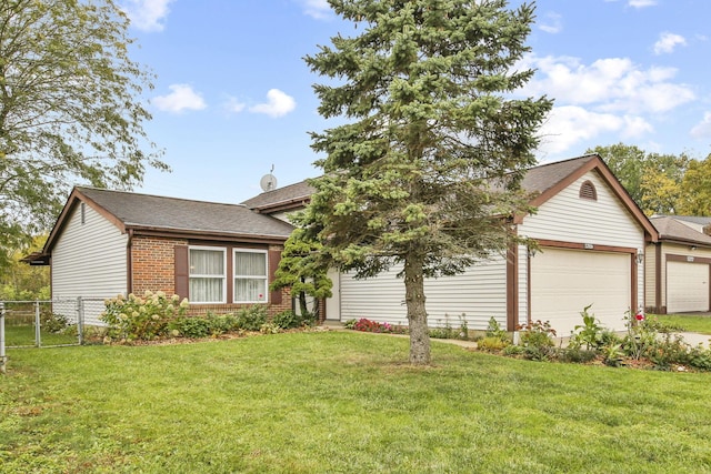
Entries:
{"type": "Polygon", "coordinates": [[[234,303],[267,302],[267,252],[234,251],[234,303]]]}

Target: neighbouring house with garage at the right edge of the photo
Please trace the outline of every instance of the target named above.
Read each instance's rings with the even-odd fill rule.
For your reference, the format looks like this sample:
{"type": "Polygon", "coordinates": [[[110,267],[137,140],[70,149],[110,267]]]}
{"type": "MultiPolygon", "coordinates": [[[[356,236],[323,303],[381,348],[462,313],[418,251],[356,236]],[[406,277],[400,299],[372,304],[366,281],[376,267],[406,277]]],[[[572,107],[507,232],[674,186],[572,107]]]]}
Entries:
{"type": "Polygon", "coordinates": [[[647,246],[647,311],[711,311],[711,218],[651,218],[659,241],[647,246]]]}

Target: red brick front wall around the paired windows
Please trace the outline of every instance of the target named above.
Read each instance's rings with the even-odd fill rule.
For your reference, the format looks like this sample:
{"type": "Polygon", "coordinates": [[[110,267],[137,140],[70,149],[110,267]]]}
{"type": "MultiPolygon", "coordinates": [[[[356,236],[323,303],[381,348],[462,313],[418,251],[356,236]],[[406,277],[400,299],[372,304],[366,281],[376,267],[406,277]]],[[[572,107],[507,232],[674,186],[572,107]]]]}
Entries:
{"type": "MultiPolygon", "coordinates": [[[[187,240],[134,236],[131,244],[132,292],[141,295],[147,290],[162,291],[166,294],[176,293],[176,245],[188,245],[187,240]]],[[[281,245],[270,245],[269,250],[282,249],[281,245]]],[[[247,304],[199,304],[190,306],[190,314],[228,313],[247,304]]],[[[281,303],[270,304],[269,314],[274,315],[291,310],[290,289],[281,290],[281,303]]]]}

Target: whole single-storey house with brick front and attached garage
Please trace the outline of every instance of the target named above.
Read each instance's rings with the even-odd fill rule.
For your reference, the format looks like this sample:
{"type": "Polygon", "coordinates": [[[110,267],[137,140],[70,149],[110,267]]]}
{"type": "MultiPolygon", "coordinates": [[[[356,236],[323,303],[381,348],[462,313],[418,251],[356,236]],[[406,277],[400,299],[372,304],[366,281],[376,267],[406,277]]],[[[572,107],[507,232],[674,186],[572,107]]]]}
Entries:
{"type": "MultiPolygon", "coordinates": [[[[567,335],[592,304],[605,326],[624,329],[625,314],[644,306],[644,249],[658,243],[657,229],[595,154],[532,168],[522,185],[538,212],[518,218],[515,231],[538,249],[518,245],[461,275],[428,280],[430,324],[485,329],[494,317],[513,331],[541,320],[567,335]]],[[[217,204],[76,188],[43,251],[53,296],[161,290],[189,297],[192,312],[290,309],[289,292],[268,284],[293,229],[289,213],[312,192],[300,182],[217,204]]],[[[326,317],[407,324],[398,270],[369,280],[332,271],[326,317]]]]}

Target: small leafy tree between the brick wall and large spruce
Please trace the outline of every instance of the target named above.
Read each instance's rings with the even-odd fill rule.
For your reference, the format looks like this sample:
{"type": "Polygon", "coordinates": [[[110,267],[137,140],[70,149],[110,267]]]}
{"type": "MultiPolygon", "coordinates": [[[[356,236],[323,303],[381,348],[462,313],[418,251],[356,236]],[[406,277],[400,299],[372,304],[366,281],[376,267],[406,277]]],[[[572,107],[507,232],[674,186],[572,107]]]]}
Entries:
{"type": "Polygon", "coordinates": [[[281,253],[279,269],[272,282],[271,290],[280,290],[290,286],[291,294],[299,302],[302,315],[311,314],[319,319],[319,300],[331,297],[333,282],[328,278],[327,271],[319,266],[314,255],[321,251],[321,244],[313,240],[307,240],[303,229],[296,229],[281,253]],[[313,305],[309,307],[308,296],[313,299],[313,305]]]}

